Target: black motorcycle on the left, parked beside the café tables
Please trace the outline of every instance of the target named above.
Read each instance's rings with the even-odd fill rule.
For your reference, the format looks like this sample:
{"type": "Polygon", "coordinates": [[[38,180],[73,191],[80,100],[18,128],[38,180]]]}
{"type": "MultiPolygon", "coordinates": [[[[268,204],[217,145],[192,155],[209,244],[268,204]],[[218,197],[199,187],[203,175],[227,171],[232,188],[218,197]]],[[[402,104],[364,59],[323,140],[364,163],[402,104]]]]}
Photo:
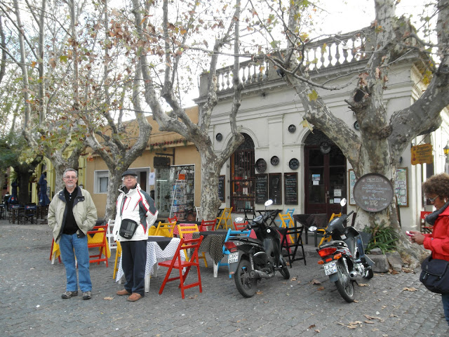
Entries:
{"type": "MultiPolygon", "coordinates": [[[[268,200],[265,207],[272,203],[268,200]]],[[[255,231],[257,239],[231,237],[225,242],[229,251],[229,275],[234,274],[237,290],[244,297],[254,296],[257,282],[274,277],[276,272],[280,272],[284,279],[290,278],[287,263],[281,254],[279,228],[267,225],[273,213],[265,209],[262,216],[257,216],[246,226],[246,230],[255,231]]],[[[236,218],[237,222],[241,220],[236,218]]]]}

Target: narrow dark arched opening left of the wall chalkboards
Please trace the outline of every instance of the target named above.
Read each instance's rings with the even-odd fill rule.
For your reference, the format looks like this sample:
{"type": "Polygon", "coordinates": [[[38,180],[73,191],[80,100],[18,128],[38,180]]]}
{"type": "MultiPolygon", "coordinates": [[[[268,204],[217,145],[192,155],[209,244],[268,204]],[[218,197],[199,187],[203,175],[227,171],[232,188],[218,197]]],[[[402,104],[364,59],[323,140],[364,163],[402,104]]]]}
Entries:
{"type": "Polygon", "coordinates": [[[254,209],[254,142],[246,133],[245,141],[231,156],[231,206],[233,213],[254,209]]]}

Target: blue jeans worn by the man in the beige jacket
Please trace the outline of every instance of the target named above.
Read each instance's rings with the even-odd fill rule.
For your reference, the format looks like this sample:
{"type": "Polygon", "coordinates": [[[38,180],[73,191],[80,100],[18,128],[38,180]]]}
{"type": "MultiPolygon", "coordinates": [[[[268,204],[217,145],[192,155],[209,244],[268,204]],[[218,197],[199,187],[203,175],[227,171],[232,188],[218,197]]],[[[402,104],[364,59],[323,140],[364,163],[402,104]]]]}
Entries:
{"type": "Polygon", "coordinates": [[[89,250],[87,237],[79,238],[76,234],[61,234],[59,242],[62,262],[67,275],[67,291],[78,291],[76,282],[76,261],[78,262],[79,288],[82,292],[92,290],[91,273],[89,272],[89,250]]]}

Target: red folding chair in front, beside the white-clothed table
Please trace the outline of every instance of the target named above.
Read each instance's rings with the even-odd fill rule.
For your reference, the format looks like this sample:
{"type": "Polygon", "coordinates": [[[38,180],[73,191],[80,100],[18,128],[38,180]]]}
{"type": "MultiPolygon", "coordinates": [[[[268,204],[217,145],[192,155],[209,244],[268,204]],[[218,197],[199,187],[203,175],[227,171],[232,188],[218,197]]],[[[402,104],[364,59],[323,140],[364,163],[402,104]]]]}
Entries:
{"type": "Polygon", "coordinates": [[[159,295],[161,295],[167,282],[175,281],[177,279],[180,280],[179,287],[181,289],[182,299],[185,298],[184,294],[185,289],[189,289],[194,286],[199,286],[199,292],[200,293],[203,292],[203,289],[201,288],[201,275],[199,272],[199,258],[198,258],[198,250],[201,241],[203,241],[203,235],[201,235],[201,237],[199,237],[198,239],[191,239],[191,240],[181,239],[181,242],[177,246],[176,253],[173,259],[158,263],[158,265],[168,267],[166,277],[163,279],[161,289],[159,289],[159,295]],[[181,251],[185,251],[187,249],[190,249],[191,257],[188,261],[184,261],[181,259],[181,254],[183,254],[181,251]],[[191,284],[185,284],[185,279],[187,278],[187,275],[189,275],[189,271],[192,266],[195,266],[196,270],[198,271],[198,281],[191,284]],[[183,268],[186,268],[184,275],[182,275],[183,268]],[[180,276],[170,278],[170,273],[173,269],[179,270],[180,276]]]}

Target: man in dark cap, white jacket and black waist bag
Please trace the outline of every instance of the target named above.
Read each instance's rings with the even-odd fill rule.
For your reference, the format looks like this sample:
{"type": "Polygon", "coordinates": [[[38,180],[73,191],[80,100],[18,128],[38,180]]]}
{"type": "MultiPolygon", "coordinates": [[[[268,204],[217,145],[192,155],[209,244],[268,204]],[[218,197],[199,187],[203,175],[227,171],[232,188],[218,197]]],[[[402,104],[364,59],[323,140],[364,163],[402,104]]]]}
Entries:
{"type": "Polygon", "coordinates": [[[121,244],[126,283],[125,289],[117,291],[117,295],[128,295],[128,300],[135,302],[145,296],[148,230],[158,212],[152,197],[140,189],[135,171],[125,171],[121,178],[123,186],[117,198],[114,239],[121,244]]]}

